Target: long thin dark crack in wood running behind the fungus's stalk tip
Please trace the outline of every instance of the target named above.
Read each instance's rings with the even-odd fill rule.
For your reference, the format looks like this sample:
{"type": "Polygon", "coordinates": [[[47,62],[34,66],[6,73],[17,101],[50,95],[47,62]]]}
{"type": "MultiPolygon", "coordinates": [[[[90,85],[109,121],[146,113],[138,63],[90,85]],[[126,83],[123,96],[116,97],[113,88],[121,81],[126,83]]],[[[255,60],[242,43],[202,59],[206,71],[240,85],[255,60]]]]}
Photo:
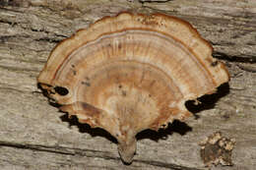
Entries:
{"type": "MultiPolygon", "coordinates": [[[[64,155],[71,155],[71,156],[86,156],[86,157],[97,157],[97,158],[103,158],[106,160],[118,160],[119,157],[109,156],[109,152],[107,151],[99,151],[95,149],[81,149],[81,148],[71,148],[71,147],[63,147],[63,146],[49,146],[49,145],[39,145],[39,144],[26,144],[26,143],[19,143],[19,142],[0,142],[0,147],[13,147],[13,148],[20,148],[20,149],[30,149],[33,151],[45,151],[45,152],[51,152],[56,154],[64,154],[64,155]]],[[[176,164],[171,163],[164,163],[160,161],[146,161],[146,160],[140,160],[135,159],[134,162],[140,162],[148,165],[153,165],[156,167],[163,167],[163,168],[169,168],[170,170],[200,170],[197,168],[189,168],[185,166],[180,166],[176,164]]]]}

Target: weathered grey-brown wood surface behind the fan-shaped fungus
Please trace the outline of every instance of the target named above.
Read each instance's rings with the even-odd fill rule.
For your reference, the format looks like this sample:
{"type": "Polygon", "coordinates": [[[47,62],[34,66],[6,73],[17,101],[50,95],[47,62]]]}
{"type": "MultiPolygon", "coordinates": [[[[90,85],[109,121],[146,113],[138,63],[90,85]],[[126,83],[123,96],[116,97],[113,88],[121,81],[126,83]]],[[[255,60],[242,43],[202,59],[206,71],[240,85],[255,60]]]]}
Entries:
{"type": "Polygon", "coordinates": [[[13,169],[205,169],[198,142],[216,131],[236,140],[232,167],[256,167],[256,1],[0,0],[0,167],[13,169]],[[69,121],[36,86],[50,50],[79,28],[120,11],[164,12],[190,22],[214,46],[231,80],[189,106],[196,117],[138,136],[126,166],[115,141],[69,121]]]}

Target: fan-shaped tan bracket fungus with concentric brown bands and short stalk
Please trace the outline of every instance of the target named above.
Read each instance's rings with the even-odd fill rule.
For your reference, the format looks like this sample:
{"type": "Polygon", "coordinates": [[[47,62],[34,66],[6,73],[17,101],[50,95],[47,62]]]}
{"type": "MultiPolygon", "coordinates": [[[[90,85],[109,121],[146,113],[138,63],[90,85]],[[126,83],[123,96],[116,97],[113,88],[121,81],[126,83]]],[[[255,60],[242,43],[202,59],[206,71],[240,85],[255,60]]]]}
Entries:
{"type": "Polygon", "coordinates": [[[131,163],[139,132],[184,120],[185,101],[228,82],[212,52],[180,19],[120,13],[60,42],[37,82],[61,111],[115,137],[122,160],[131,163]]]}

